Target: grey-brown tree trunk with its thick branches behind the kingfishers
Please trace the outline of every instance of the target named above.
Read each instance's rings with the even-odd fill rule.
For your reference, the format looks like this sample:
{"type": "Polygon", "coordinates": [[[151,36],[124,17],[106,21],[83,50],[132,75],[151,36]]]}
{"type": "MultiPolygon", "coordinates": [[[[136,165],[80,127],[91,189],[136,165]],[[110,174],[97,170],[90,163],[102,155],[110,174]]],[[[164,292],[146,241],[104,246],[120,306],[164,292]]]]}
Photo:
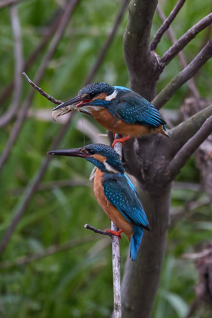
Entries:
{"type": "MultiPolygon", "coordinates": [[[[165,60],[161,61],[154,52],[150,52],[148,41],[148,32],[152,23],[150,10],[154,12],[155,7],[153,2],[148,2],[148,8],[145,4],[145,1],[130,3],[129,21],[124,35],[125,58],[130,75],[130,88],[147,100],[152,100],[153,105],[159,109],[212,56],[212,40],[209,40],[197,57],[154,99],[156,82],[163,71],[165,60]],[[136,8],[137,4],[138,8],[136,8]]],[[[191,28],[182,37],[184,41],[182,44],[181,41],[177,41],[173,45],[177,48],[173,50],[174,54],[178,54],[195,37],[195,34],[209,25],[210,19],[211,15],[201,20],[197,24],[196,31],[194,31],[196,26],[191,28]]],[[[151,317],[166,249],[167,230],[170,223],[171,181],[175,176],[174,173],[171,176],[167,175],[165,171],[170,161],[177,156],[187,142],[190,143],[189,139],[195,134],[195,138],[199,136],[200,139],[197,138],[198,142],[194,142],[194,148],[204,141],[209,130],[207,134],[203,134],[202,131],[198,133],[198,130],[211,115],[212,107],[209,106],[170,130],[171,139],[152,134],[129,140],[123,146],[125,168],[137,180],[139,187],[137,190],[153,229],[152,232],[145,233],[136,261],[134,263],[126,261],[122,280],[123,318],[151,317]]]]}

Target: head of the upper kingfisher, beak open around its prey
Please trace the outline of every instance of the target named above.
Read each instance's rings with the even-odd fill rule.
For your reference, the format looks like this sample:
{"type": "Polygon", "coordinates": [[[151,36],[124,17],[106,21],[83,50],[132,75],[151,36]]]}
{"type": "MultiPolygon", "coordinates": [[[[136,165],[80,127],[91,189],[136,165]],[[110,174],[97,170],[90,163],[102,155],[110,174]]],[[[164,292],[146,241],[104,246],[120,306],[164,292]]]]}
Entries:
{"type": "Polygon", "coordinates": [[[102,106],[104,106],[104,104],[110,104],[110,102],[116,97],[117,93],[118,92],[115,87],[110,86],[107,83],[88,84],[79,91],[79,94],[76,97],[66,101],[63,104],[58,105],[53,109],[53,111],[75,103],[76,107],[83,107],[88,105],[92,106],[92,102],[94,101],[97,104],[105,101],[102,103],[102,106]]]}

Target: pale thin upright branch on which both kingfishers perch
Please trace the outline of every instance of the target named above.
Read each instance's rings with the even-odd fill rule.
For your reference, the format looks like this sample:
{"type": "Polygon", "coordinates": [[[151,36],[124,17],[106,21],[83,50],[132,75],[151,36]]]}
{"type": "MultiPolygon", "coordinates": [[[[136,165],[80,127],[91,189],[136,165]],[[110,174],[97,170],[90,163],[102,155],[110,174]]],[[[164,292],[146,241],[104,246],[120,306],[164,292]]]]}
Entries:
{"type": "MultiPolygon", "coordinates": [[[[115,135],[115,139],[120,138],[119,135],[115,135]]],[[[122,153],[122,143],[117,142],[114,145],[114,150],[118,152],[121,156],[122,153]]],[[[111,221],[111,230],[118,231],[117,226],[111,221]]],[[[121,318],[121,274],[120,274],[120,239],[118,236],[112,235],[112,263],[113,263],[113,300],[114,300],[114,309],[113,314],[114,318],[121,318]]]]}

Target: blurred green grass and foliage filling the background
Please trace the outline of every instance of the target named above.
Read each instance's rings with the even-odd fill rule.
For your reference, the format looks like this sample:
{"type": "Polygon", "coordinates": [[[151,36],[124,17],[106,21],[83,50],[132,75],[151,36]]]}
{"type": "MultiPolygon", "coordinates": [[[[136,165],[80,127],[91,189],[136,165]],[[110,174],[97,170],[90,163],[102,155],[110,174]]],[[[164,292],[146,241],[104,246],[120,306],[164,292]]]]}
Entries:
{"type": "MultiPolygon", "coordinates": [[[[176,1],[162,1],[168,15],[176,1]]],[[[28,0],[17,5],[22,28],[24,59],[42,40],[46,28],[55,18],[62,0],[28,0]]],[[[106,36],[119,11],[120,0],[81,0],[74,10],[65,35],[49,63],[40,86],[60,100],[76,95],[86,74],[95,62],[106,36]]],[[[173,23],[179,38],[194,23],[211,10],[211,1],[187,0],[173,23]]],[[[117,34],[93,81],[129,87],[128,73],[122,49],[122,37],[127,23],[127,12],[117,34]]],[[[161,25],[155,14],[152,35],[161,25]]],[[[210,30],[209,30],[210,31],[210,30]]],[[[200,51],[210,32],[201,32],[185,48],[188,62],[200,51]]],[[[0,90],[10,83],[14,74],[14,41],[12,38],[9,9],[0,10],[0,90]]],[[[161,56],[171,45],[164,35],[157,48],[161,56]]],[[[27,72],[33,78],[46,49],[27,72]]],[[[211,66],[209,60],[195,77],[202,97],[211,97],[211,66]]],[[[164,70],[158,83],[160,91],[181,70],[175,58],[164,70]]],[[[29,90],[24,81],[22,99],[29,90]]],[[[170,109],[179,108],[188,96],[188,85],[179,89],[167,103],[170,109]]],[[[0,114],[10,104],[11,96],[1,105],[0,114]]],[[[52,104],[35,94],[34,109],[52,109],[52,104]]],[[[60,148],[81,147],[84,136],[77,129],[82,118],[90,120],[102,133],[104,129],[86,115],[75,114],[60,148]]],[[[31,116],[24,122],[21,133],[8,161],[3,167],[0,183],[0,238],[23,199],[11,190],[24,188],[36,174],[40,163],[54,140],[61,124],[39,121],[31,116]]],[[[0,150],[6,144],[12,123],[0,130],[0,150]]],[[[85,135],[85,143],[91,143],[85,135]]],[[[52,149],[51,149],[52,150],[52,149]]],[[[43,182],[62,179],[88,178],[92,165],[80,158],[54,157],[45,173],[43,182]]],[[[177,177],[179,181],[200,182],[194,159],[187,163],[177,177]]],[[[181,259],[183,252],[201,250],[211,239],[211,209],[204,204],[205,194],[192,190],[173,190],[171,203],[172,223],[168,234],[167,252],[161,275],[160,288],[154,306],[153,318],[183,318],[194,300],[193,286],[197,272],[192,260],[181,259]],[[189,209],[189,202],[199,202],[189,209]],[[203,202],[203,203],[202,203],[203,202]],[[183,211],[182,214],[178,211],[183,211]]],[[[19,256],[38,253],[53,244],[94,235],[84,229],[88,223],[97,228],[110,226],[109,219],[96,202],[93,190],[86,186],[55,188],[38,191],[19,222],[2,260],[15,260],[19,256]]],[[[98,234],[95,234],[98,235],[98,234]]],[[[0,271],[0,316],[7,318],[53,317],[110,317],[113,309],[113,281],[111,245],[99,236],[98,242],[80,244],[64,252],[0,271]]],[[[121,272],[127,257],[128,241],[121,240],[121,272]]],[[[202,316],[203,317],[203,316],[202,316]]]]}

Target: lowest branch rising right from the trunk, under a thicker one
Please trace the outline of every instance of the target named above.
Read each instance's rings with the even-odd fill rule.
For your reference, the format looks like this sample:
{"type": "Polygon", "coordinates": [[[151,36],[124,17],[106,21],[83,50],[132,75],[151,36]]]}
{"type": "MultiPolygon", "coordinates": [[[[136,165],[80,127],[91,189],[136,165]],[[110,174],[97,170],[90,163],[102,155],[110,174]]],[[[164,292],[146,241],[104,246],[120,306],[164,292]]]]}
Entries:
{"type": "Polygon", "coordinates": [[[190,156],[201,145],[201,143],[212,133],[212,115],[206,119],[202,127],[198,132],[188,140],[188,142],[178,151],[168,167],[165,170],[165,174],[169,176],[176,176],[180,169],[186,164],[190,156]]]}

